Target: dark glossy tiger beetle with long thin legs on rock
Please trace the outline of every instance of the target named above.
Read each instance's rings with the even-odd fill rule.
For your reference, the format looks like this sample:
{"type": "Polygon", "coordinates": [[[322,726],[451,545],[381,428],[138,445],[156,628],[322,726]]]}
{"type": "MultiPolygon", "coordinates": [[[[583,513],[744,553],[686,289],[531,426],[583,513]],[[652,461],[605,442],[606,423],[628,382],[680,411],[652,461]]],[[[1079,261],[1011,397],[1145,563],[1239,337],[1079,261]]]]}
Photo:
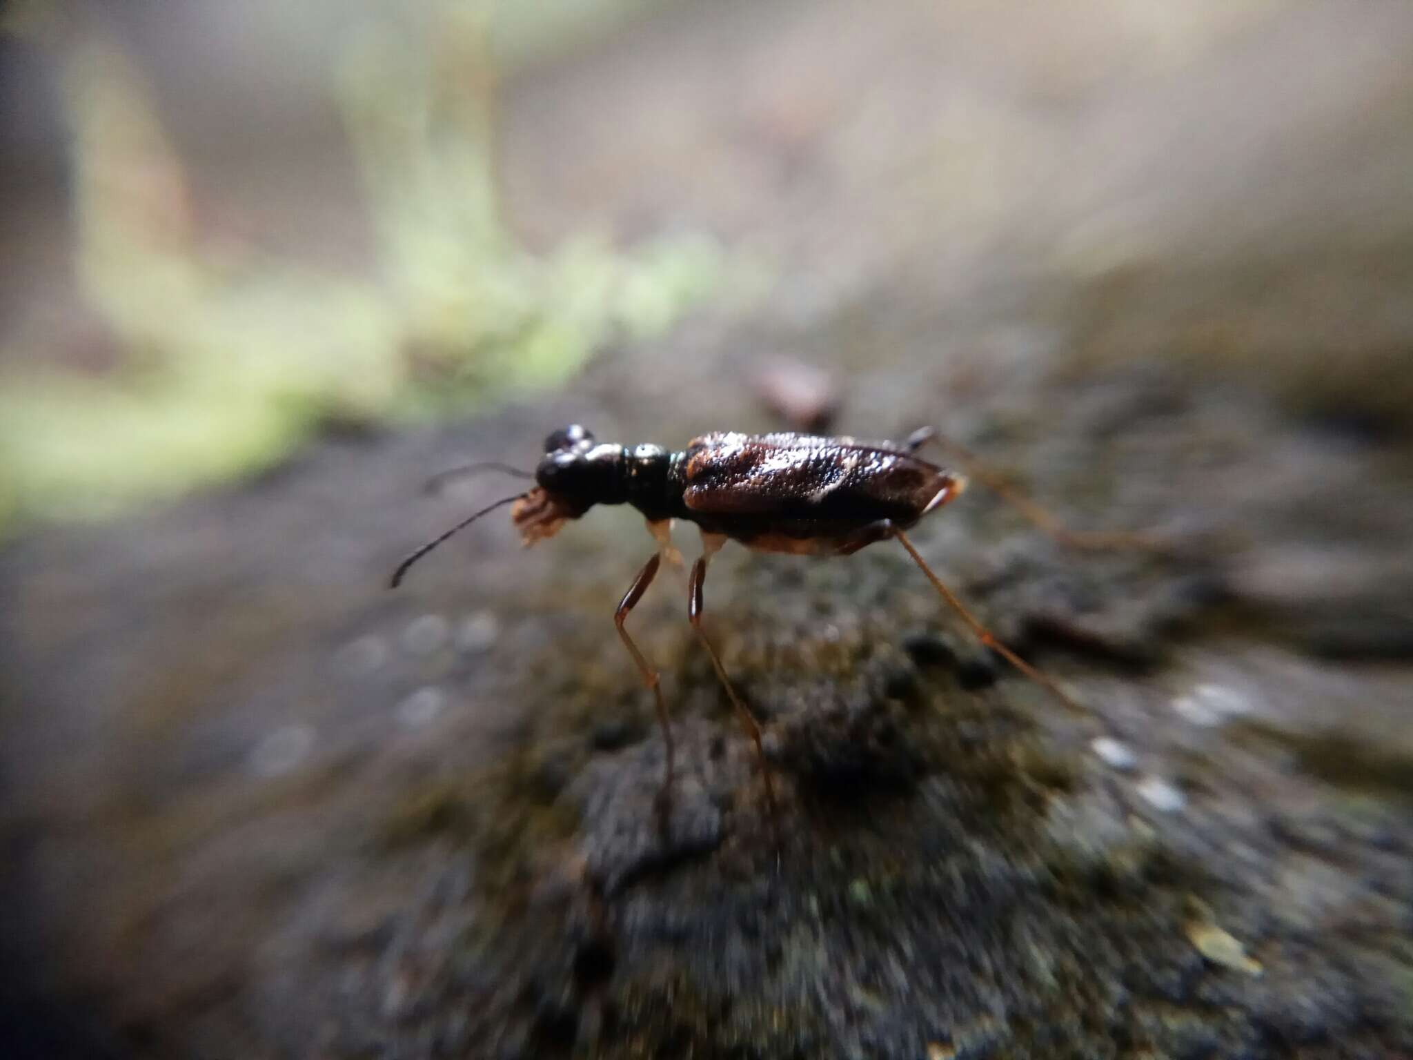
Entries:
{"type": "Polygon", "coordinates": [[[613,612],[623,646],[651,691],[663,728],[667,767],[663,800],[673,786],[673,732],[657,671],[629,636],[629,612],[651,585],[663,557],[675,560],[671,547],[673,520],[695,523],[702,536],[701,557],[692,564],[687,591],[687,616],[721,680],[742,726],[756,748],[771,817],[774,786],[760,743],[760,724],[731,684],[721,656],[702,629],[702,582],[711,557],[728,541],[762,553],[793,555],[851,555],[876,541],[896,540],[913,563],[988,649],[1006,659],[1020,673],[1048,691],[1067,708],[1085,712],[1051,678],[1003,644],[983,626],[933,572],[906,530],[966,488],[966,476],[931,464],[917,455],[927,442],[950,451],[974,478],[998,490],[1022,514],[1063,544],[1071,547],[1147,547],[1136,534],[1075,534],[1034,502],[1020,496],[1000,479],[981,469],[976,458],[931,428],[921,428],[903,444],[868,442],[810,434],[736,434],[721,431],[692,440],[685,449],[668,452],[658,445],[596,444],[579,425],[565,427],[545,438],[545,454],[534,473],[503,464],[472,464],[445,475],[492,468],[524,479],[534,486],[503,497],[463,519],[441,536],[411,553],[393,571],[396,588],[407,570],[452,534],[504,505],[513,505],[512,520],[530,546],[552,537],[571,519],[579,519],[595,505],[632,505],[647,519],[657,551],[637,572],[613,612]]]}

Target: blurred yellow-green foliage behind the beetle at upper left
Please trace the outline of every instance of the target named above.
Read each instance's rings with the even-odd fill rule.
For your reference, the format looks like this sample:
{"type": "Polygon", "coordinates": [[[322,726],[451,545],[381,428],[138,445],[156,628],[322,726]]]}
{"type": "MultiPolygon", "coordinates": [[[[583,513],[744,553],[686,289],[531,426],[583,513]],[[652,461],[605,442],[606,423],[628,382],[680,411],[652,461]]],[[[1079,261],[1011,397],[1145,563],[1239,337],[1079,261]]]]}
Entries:
{"type": "Polygon", "coordinates": [[[92,27],[57,35],[76,271],[120,363],[0,380],[0,527],[244,473],[331,421],[465,414],[564,380],[609,339],[661,332],[715,285],[704,237],[521,247],[495,182],[490,6],[413,10],[360,27],[331,72],[374,278],[213,247],[141,72],[92,27]]]}

